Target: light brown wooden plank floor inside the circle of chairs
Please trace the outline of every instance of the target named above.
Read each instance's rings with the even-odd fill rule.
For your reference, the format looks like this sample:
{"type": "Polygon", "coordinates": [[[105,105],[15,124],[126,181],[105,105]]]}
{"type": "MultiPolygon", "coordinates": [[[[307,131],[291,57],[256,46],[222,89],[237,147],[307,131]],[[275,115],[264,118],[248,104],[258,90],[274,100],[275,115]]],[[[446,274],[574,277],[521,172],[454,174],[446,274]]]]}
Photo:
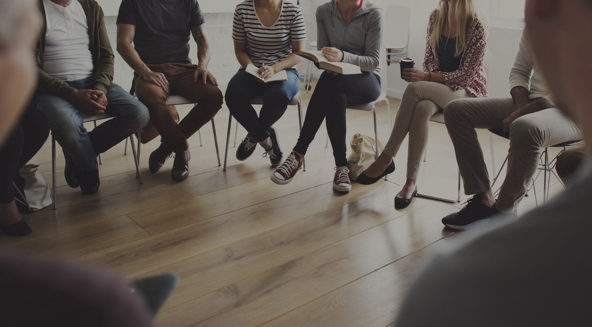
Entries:
{"type": "MultiPolygon", "coordinates": [[[[302,93],[306,105],[311,93],[302,93]]],[[[391,106],[394,119],[398,101],[391,99],[391,106]]],[[[181,115],[189,109],[179,106],[181,115]]],[[[377,109],[379,138],[386,141],[387,106],[377,109]]],[[[276,124],[287,153],[298,137],[297,117],[295,107],[288,108],[276,124]]],[[[223,162],[226,107],[215,122],[223,162]]],[[[458,171],[445,127],[431,124],[420,190],[422,181],[456,179],[458,171]]],[[[358,132],[374,135],[371,112],[348,111],[348,140],[358,132]]],[[[239,141],[245,134],[240,128],[239,141]]],[[[201,147],[197,134],[191,138],[191,176],[184,182],[170,179],[172,160],[150,174],[147,158],[158,145],[152,141],[142,145],[139,185],[131,152],[124,156],[121,143],[103,155],[101,189],[92,196],[66,185],[58,150],[57,210],[26,215],[33,234],[0,235],[0,247],[90,261],[129,279],[175,271],[181,281],[157,315],[159,326],[389,326],[417,269],[451,239],[440,219],[461,203],[417,198],[404,210],[393,208],[407,143],[388,182],[353,184],[341,194],[332,189],[324,127],[310,146],[307,171],[284,186],[269,180],[273,169],[260,147],[240,162],[231,143],[224,172],[211,125],[201,135],[201,147]]],[[[489,164],[488,132],[479,136],[489,164]]],[[[494,137],[497,169],[507,148],[507,140],[494,137]]],[[[48,184],[50,151],[48,142],[31,160],[48,184]]],[[[454,194],[455,183],[449,186],[454,194]]],[[[552,192],[561,190],[552,184],[552,192]]],[[[535,206],[530,195],[522,212],[535,206]]]]}

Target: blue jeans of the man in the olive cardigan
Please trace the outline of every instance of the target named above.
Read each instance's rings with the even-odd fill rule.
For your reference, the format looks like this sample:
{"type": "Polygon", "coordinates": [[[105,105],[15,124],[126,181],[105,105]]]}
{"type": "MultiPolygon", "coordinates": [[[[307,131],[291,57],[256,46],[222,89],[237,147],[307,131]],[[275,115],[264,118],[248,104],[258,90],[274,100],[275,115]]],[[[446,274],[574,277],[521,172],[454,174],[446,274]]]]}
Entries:
{"type": "MultiPolygon", "coordinates": [[[[88,90],[94,86],[94,77],[70,80],[66,83],[78,90],[88,90]]],[[[82,171],[96,169],[96,156],[99,153],[104,153],[139,131],[146,126],[149,119],[146,106],[121,86],[112,83],[106,96],[105,114],[114,118],[104,121],[90,132],[86,131],[80,112],[72,102],[39,91],[31,101],[31,106],[47,116],[53,137],[82,171]]]]}

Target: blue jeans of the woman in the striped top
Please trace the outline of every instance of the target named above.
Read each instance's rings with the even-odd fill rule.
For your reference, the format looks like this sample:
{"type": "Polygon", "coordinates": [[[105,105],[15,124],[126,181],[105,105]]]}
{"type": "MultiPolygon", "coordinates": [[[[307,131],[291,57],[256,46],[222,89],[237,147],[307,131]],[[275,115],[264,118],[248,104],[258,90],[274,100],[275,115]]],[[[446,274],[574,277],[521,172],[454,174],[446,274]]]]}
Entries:
{"type": "Polygon", "coordinates": [[[287,69],[287,81],[258,83],[254,76],[240,69],[226,89],[226,105],[230,113],[257,142],[269,137],[269,128],[284,115],[289,101],[300,89],[300,77],[295,68],[287,69]],[[250,105],[251,99],[263,95],[263,106],[257,112],[250,105]]]}

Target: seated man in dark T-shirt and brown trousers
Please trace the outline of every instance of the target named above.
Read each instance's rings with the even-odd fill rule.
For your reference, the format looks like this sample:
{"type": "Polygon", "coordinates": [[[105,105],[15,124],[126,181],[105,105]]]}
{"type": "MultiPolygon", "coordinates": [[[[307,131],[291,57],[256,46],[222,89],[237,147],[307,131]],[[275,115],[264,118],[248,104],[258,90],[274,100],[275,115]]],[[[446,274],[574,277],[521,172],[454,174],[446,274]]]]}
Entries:
{"type": "Polygon", "coordinates": [[[204,23],[197,0],[123,0],[117,17],[117,51],[136,72],[132,92],[148,107],[150,122],[162,137],[150,154],[150,172],[175,153],[170,174],[176,182],[189,176],[187,139],[222,108],[222,92],[208,72],[211,52],[204,23]],[[197,65],[189,59],[190,34],[198,46],[197,65]],[[197,103],[179,124],[166,109],[170,94],[197,103]]]}

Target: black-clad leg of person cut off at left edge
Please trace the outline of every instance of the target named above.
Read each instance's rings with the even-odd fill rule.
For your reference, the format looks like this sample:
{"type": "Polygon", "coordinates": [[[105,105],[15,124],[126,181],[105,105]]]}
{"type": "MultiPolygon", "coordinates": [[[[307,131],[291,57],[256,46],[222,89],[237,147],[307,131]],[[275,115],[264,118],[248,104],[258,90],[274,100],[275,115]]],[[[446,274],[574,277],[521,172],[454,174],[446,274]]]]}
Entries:
{"type": "Polygon", "coordinates": [[[28,108],[15,125],[8,139],[0,147],[0,203],[14,200],[14,185],[24,187],[18,169],[43,146],[49,136],[49,124],[43,112],[28,108]]]}

